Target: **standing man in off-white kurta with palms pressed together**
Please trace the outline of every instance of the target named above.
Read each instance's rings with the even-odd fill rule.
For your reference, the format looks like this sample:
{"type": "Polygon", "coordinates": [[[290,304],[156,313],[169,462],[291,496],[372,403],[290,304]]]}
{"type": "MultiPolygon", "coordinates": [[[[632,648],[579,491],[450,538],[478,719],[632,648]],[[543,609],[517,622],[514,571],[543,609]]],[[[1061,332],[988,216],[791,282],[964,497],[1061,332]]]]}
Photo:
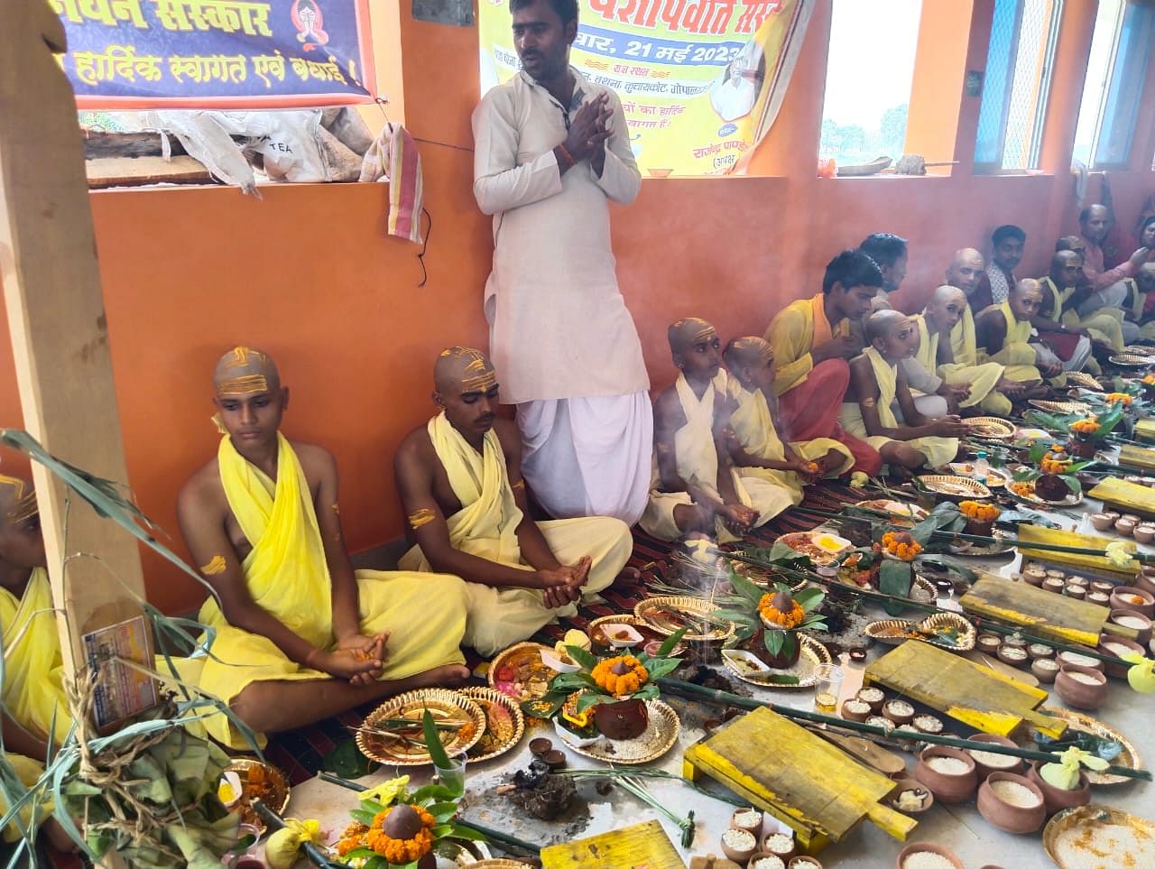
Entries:
{"type": "Polygon", "coordinates": [[[517,406],[522,473],[557,518],[646,508],[654,417],[618,290],[609,200],[641,174],[617,95],[569,66],[575,0],[511,0],[522,70],[474,112],[474,195],[493,215],[485,284],[501,399],[517,406]]]}

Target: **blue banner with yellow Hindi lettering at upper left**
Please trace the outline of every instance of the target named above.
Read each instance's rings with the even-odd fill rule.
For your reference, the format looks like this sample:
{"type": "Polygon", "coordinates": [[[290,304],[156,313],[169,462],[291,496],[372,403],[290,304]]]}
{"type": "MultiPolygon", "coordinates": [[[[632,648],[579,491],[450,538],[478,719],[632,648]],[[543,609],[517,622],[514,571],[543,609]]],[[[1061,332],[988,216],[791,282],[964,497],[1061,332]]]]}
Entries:
{"type": "MultiPolygon", "coordinates": [[[[24,0],[21,0],[23,2],[24,0]]],[[[83,109],[373,99],[367,0],[49,0],[83,109]]]]}

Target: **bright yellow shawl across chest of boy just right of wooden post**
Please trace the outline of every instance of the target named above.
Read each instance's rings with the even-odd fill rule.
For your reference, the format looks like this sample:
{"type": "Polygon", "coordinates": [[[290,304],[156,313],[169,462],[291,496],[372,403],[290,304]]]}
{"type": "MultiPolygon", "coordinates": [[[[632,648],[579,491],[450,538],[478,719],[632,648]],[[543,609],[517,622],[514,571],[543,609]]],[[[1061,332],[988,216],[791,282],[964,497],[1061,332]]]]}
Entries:
{"type": "MultiPolygon", "coordinates": [[[[245,558],[245,585],[254,603],[298,637],[333,645],[333,592],[321,530],[308,481],[297,453],[277,434],[277,480],[246,461],[224,437],[217,450],[221,484],[229,508],[253,550],[245,558]]],[[[201,607],[200,621],[223,625],[215,597],[201,607]]]]}

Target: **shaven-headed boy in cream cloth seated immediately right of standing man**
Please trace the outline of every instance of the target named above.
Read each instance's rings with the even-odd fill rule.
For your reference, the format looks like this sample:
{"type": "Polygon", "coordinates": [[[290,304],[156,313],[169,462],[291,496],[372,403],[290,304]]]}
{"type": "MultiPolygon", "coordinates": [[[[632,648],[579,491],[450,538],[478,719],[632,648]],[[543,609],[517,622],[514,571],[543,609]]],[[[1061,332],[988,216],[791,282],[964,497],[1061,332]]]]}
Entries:
{"type": "Polygon", "coordinates": [[[717,332],[696,317],[666,330],[678,379],[654,402],[655,474],[641,526],[661,540],[742,537],[793,504],[778,481],[739,476],[717,332]]]}

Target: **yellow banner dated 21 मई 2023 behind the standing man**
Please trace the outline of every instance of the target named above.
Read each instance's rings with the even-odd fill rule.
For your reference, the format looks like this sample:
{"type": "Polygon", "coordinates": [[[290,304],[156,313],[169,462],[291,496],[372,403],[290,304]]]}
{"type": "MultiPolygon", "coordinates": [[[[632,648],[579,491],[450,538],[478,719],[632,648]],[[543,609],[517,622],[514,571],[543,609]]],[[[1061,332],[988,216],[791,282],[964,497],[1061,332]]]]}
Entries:
{"type": "MultiPolygon", "coordinates": [[[[507,0],[479,0],[482,92],[521,64],[507,0]]],[[[614,90],[643,174],[740,170],[774,122],[804,0],[579,0],[569,62],[614,90]]]]}

